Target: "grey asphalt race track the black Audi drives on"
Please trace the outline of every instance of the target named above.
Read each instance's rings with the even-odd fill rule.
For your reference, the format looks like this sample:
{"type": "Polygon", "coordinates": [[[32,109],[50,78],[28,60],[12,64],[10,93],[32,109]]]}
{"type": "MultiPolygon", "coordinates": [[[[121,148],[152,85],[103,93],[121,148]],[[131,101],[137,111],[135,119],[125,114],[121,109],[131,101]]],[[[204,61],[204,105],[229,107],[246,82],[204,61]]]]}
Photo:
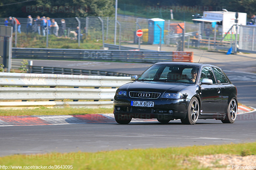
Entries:
{"type": "MultiPolygon", "coordinates": [[[[44,62],[49,66],[49,61],[44,62]]],[[[60,63],[60,61],[58,62],[60,63]]],[[[250,62],[211,63],[220,66],[231,82],[236,85],[238,102],[256,108],[256,73],[246,71],[252,66],[255,67],[256,62],[250,62]]],[[[68,64],[74,65],[74,63],[68,64]]],[[[82,62],[79,63],[83,65],[82,62]]],[[[90,65],[89,62],[85,63],[90,65]]],[[[116,68],[116,70],[111,69],[111,67],[114,68],[112,64],[101,63],[98,65],[100,69],[97,69],[97,63],[94,62],[93,68],[95,70],[117,71],[116,68]]],[[[118,67],[131,70],[130,72],[120,70],[118,72],[129,74],[140,74],[151,65],[125,63],[127,65],[124,66],[121,63],[115,64],[118,67]]],[[[34,65],[36,65],[35,61],[34,65]]],[[[57,66],[55,65],[55,67],[57,66]]],[[[74,67],[77,68],[76,65],[74,67]]],[[[89,66],[83,67],[83,69],[91,68],[89,66]]],[[[243,143],[256,141],[256,112],[237,115],[236,122],[233,124],[224,124],[219,120],[208,119],[198,120],[195,125],[182,125],[179,120],[176,120],[170,121],[168,124],[131,122],[128,125],[88,123],[10,126],[0,127],[0,136],[0,156],[17,153],[97,152],[131,148],[243,143]]]]}

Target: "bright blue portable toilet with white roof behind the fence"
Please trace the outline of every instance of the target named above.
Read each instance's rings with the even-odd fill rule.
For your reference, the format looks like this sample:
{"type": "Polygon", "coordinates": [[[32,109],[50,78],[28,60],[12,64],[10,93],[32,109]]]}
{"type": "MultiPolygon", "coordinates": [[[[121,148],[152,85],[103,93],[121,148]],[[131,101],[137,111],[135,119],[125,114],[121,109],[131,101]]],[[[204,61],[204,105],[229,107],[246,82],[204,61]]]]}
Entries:
{"type": "Polygon", "coordinates": [[[160,28],[156,24],[162,28],[161,44],[164,44],[164,19],[161,18],[148,19],[148,43],[159,44],[160,42],[160,28]]]}

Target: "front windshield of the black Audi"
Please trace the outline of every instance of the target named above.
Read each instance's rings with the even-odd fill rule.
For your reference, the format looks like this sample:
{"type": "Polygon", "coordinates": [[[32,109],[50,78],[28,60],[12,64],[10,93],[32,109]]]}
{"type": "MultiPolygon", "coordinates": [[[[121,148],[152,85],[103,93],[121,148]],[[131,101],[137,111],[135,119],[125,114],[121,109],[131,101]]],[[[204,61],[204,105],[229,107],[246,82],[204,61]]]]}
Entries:
{"type": "Polygon", "coordinates": [[[175,64],[156,64],[140,75],[138,81],[164,81],[196,84],[198,67],[175,64]]]}

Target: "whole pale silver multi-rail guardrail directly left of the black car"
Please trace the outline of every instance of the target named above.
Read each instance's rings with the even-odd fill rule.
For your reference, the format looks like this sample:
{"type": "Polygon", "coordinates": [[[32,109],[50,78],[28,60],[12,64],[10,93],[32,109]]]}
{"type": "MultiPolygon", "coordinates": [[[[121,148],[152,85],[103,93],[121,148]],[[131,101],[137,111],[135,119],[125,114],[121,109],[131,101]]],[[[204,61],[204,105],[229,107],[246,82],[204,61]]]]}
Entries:
{"type": "Polygon", "coordinates": [[[116,87],[131,82],[129,77],[80,76],[58,74],[0,73],[0,108],[24,107],[113,107],[116,87]],[[27,87],[24,87],[27,86],[27,87]],[[36,87],[28,87],[36,86],[36,87]],[[41,87],[37,87],[41,86],[41,87]],[[42,87],[43,86],[43,87],[42,87]],[[58,86],[75,87],[60,88],[58,86]],[[49,88],[56,87],[56,88],[49,88]],[[78,88],[78,87],[94,87],[78,88]],[[112,87],[112,88],[100,88],[112,87]],[[76,100],[76,101],[4,101],[3,100],[76,100]],[[94,100],[94,101],[77,101],[94,100]]]}

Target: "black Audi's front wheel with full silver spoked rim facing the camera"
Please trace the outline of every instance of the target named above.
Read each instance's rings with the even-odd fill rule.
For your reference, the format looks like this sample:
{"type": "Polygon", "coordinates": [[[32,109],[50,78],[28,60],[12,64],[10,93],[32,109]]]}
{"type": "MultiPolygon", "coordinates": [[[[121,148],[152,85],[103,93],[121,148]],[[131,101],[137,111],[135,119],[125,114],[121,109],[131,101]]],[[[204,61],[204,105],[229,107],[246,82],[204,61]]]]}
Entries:
{"type": "Polygon", "coordinates": [[[199,117],[199,102],[196,97],[193,97],[190,100],[188,105],[188,112],[185,119],[180,119],[183,124],[196,124],[196,121],[199,117]]]}

